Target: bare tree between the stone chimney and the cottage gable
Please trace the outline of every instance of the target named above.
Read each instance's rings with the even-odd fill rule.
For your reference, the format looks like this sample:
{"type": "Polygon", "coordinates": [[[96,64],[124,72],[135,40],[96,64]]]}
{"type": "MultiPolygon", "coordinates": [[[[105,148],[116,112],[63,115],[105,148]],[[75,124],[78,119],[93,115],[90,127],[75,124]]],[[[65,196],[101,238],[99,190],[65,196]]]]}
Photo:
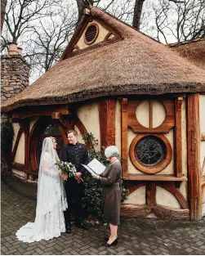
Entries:
{"type": "Polygon", "coordinates": [[[77,13],[74,13],[70,5],[60,8],[49,19],[39,20],[38,26],[33,28],[33,37],[29,40],[28,53],[25,55],[34,73],[43,74],[59,60],[74,34],[76,20],[77,13]]]}

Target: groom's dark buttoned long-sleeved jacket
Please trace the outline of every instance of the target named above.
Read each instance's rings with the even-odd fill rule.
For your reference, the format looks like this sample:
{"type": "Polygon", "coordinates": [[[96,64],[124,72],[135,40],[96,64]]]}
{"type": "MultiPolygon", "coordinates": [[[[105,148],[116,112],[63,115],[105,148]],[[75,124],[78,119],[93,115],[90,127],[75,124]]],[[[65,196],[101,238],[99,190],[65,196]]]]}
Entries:
{"type": "Polygon", "coordinates": [[[63,146],[62,161],[74,164],[77,172],[82,173],[83,177],[86,169],[81,164],[89,163],[87,146],[82,143],[77,143],[76,145],[66,144],[63,146]]]}

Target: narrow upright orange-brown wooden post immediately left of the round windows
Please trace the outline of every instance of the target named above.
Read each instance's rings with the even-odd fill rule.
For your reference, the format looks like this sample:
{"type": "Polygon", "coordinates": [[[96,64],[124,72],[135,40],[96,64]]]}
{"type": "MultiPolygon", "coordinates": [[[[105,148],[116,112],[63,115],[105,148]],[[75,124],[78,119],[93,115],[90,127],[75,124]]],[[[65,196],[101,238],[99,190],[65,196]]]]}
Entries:
{"type": "Polygon", "coordinates": [[[121,101],[121,155],[123,177],[128,175],[127,98],[121,101]]]}

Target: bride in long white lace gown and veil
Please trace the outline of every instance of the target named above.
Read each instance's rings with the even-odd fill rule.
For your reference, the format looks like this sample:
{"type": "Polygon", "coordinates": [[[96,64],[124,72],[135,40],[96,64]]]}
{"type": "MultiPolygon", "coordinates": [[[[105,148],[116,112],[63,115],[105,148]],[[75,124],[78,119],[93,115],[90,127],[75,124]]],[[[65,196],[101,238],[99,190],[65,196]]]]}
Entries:
{"type": "Polygon", "coordinates": [[[64,175],[56,166],[56,138],[46,137],[38,171],[38,194],[35,222],[28,222],[16,232],[18,240],[32,243],[50,240],[65,232],[64,213],[68,208],[63,186],[64,175]]]}

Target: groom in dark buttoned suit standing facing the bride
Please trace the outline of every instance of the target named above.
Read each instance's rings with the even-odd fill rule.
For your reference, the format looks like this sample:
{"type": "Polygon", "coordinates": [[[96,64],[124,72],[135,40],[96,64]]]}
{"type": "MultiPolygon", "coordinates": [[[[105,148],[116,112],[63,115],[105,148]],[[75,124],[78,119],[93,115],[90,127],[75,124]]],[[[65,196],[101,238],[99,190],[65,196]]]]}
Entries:
{"type": "Polygon", "coordinates": [[[75,226],[87,229],[84,222],[82,209],[83,182],[82,178],[85,169],[81,164],[88,164],[87,146],[78,142],[78,132],[70,130],[68,132],[69,144],[63,146],[62,161],[74,164],[77,169],[75,177],[69,177],[65,183],[65,193],[68,201],[68,209],[64,212],[66,233],[71,232],[70,215],[74,209],[75,226]]]}

